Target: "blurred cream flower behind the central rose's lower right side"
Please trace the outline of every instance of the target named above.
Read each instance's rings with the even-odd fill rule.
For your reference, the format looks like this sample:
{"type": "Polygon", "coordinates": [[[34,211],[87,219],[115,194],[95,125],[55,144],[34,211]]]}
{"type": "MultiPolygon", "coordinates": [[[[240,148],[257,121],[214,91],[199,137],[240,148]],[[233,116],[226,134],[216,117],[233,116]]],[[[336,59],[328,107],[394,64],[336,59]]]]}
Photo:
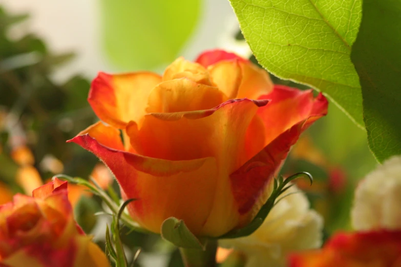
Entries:
{"type": "Polygon", "coordinates": [[[308,199],[296,186],[284,194],[288,193],[292,194],[272,208],[258,230],[246,237],[220,240],[220,245],[246,253],[246,267],[285,266],[289,252],[319,248],[322,216],[309,209],[308,199]]]}

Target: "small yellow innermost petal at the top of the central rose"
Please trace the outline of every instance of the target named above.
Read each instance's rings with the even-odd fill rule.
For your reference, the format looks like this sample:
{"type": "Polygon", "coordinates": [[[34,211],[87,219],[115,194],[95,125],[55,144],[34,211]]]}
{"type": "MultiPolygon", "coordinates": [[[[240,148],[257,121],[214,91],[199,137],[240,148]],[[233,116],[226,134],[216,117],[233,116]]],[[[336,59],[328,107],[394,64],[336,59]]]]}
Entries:
{"type": "Polygon", "coordinates": [[[211,86],[209,74],[206,69],[195,62],[187,61],[183,57],[177,58],[164,71],[162,81],[179,78],[188,78],[196,83],[211,86]]]}

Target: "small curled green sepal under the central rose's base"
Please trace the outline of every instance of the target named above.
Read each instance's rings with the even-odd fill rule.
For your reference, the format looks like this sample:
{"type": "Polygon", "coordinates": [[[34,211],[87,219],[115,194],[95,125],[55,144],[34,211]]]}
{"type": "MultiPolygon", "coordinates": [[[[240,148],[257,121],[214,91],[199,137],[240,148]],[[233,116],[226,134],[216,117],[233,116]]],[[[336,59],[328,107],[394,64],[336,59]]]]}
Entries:
{"type": "Polygon", "coordinates": [[[186,227],[183,220],[167,218],[161,225],[161,237],[179,248],[203,249],[203,243],[186,227]]]}

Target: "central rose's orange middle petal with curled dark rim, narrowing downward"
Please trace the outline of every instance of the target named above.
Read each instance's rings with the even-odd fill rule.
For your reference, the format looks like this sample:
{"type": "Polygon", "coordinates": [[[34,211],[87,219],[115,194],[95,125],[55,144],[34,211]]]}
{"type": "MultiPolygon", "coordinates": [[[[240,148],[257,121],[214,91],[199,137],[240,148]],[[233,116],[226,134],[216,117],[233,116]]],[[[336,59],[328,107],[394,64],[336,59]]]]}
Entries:
{"type": "Polygon", "coordinates": [[[165,160],[194,160],[213,157],[218,164],[214,204],[202,233],[218,236],[238,224],[228,176],[265,146],[264,135],[253,135],[255,146],[247,146],[249,127],[264,132],[254,120],[267,101],[229,100],[216,108],[176,114],[150,114],[141,127],[130,124],[127,133],[136,151],[165,160]],[[260,139],[260,140],[258,140],[260,139]],[[257,146],[259,145],[259,147],[257,146]],[[224,218],[224,219],[221,219],[224,218]]]}

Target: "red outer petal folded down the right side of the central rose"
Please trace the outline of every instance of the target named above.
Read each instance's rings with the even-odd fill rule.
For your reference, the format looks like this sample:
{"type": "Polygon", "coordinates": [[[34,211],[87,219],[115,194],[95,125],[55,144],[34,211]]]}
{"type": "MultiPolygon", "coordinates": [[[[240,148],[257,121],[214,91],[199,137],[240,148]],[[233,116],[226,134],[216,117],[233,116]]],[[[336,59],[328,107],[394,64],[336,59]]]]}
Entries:
{"type": "MultiPolygon", "coordinates": [[[[267,200],[269,181],[277,174],[302,131],[327,113],[326,98],[322,95],[313,98],[311,91],[276,86],[263,98],[271,99],[268,105],[258,109],[259,122],[264,123],[266,129],[266,146],[230,176],[242,224],[247,224],[267,200]]],[[[250,131],[248,143],[251,144],[255,140],[252,137],[257,134],[260,133],[250,131]]]]}

